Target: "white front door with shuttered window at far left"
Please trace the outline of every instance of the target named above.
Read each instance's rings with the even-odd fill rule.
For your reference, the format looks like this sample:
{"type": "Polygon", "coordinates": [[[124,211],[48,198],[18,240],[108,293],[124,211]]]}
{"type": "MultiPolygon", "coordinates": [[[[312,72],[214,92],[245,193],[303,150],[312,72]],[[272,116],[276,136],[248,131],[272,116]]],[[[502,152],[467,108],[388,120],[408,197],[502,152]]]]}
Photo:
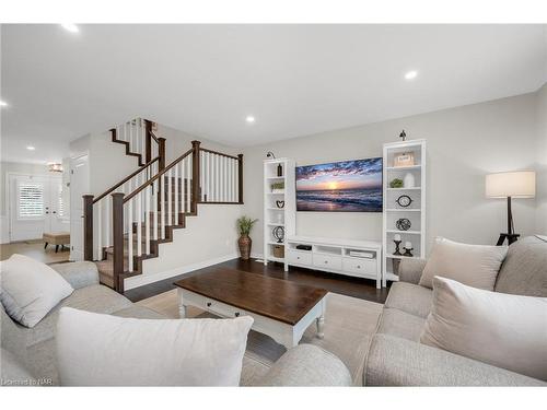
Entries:
{"type": "Polygon", "coordinates": [[[10,175],[10,242],[68,231],[61,176],[10,175]]]}

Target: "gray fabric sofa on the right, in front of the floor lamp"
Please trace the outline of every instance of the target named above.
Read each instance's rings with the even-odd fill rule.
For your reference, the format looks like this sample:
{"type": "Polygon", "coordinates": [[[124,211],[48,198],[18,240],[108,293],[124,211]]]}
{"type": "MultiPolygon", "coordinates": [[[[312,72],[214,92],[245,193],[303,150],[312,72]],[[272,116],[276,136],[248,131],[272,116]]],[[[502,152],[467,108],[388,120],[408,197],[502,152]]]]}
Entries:
{"type": "MultiPolygon", "coordinates": [[[[426,260],[404,259],[366,356],[366,386],[546,385],[503,368],[420,344],[432,291],[418,284],[426,260]]],[[[547,297],[547,243],[525,237],[509,247],[496,292],[547,297]]]]}

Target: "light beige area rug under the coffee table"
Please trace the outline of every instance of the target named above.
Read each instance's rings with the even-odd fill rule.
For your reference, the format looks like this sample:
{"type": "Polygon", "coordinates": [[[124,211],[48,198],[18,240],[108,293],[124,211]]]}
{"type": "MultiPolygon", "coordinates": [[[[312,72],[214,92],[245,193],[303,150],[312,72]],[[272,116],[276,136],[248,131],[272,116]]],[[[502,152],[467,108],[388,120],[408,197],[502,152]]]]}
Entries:
{"type": "MultiPolygon", "coordinates": [[[[142,300],[137,304],[170,318],[178,318],[176,290],[142,300]]],[[[325,313],[325,338],[316,338],[314,324],[307,328],[300,343],[316,344],[336,354],[349,368],[353,383],[361,385],[364,358],[381,312],[382,304],[380,303],[329,293],[325,313]]],[[[187,317],[216,316],[189,306],[187,317]]],[[[251,331],[241,384],[243,386],[255,384],[286,351],[284,347],[278,344],[269,336],[251,331]]]]}

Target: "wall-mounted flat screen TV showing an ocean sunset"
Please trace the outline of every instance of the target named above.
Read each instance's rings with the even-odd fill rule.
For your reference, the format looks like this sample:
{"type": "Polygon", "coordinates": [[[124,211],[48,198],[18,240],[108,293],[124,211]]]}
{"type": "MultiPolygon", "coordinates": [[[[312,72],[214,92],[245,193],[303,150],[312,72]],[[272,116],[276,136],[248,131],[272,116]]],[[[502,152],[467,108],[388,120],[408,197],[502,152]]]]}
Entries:
{"type": "Polygon", "coordinates": [[[296,167],[296,211],[382,212],[382,157],[296,167]]]}

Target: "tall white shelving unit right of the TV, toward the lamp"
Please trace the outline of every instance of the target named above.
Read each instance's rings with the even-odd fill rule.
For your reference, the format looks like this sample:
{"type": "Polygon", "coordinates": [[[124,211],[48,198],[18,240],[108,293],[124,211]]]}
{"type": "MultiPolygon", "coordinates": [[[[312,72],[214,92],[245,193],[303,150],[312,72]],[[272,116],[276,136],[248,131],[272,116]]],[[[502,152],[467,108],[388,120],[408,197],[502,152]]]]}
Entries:
{"type": "MultiPolygon", "coordinates": [[[[382,284],[385,286],[387,281],[397,281],[396,268],[400,259],[408,256],[393,255],[395,251],[395,235],[400,235],[400,253],[407,242],[412,245],[412,257],[423,258],[426,256],[426,140],[411,140],[384,144],[383,155],[383,177],[384,177],[384,210],[383,210],[383,263],[382,263],[382,284]],[[414,155],[414,165],[395,166],[396,156],[404,153],[414,155]],[[405,176],[414,176],[414,186],[403,186],[401,188],[391,188],[389,183],[399,178],[405,180],[405,176]],[[401,207],[397,203],[397,198],[406,195],[411,198],[408,207],[401,207]],[[397,220],[405,218],[410,221],[410,227],[407,231],[398,230],[397,220]]],[[[408,179],[408,178],[407,178],[408,179]]]]}

